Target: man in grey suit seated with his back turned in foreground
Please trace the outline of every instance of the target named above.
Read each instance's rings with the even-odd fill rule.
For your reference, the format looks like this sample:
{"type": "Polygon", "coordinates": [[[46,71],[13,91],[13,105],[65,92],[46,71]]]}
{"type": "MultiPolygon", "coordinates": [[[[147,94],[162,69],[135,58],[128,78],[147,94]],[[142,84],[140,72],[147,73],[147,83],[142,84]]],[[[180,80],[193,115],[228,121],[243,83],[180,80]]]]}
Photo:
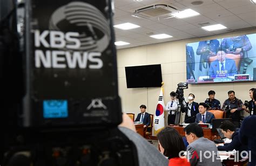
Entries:
{"type": "Polygon", "coordinates": [[[214,142],[204,137],[203,129],[197,123],[190,123],[184,128],[187,146],[187,158],[190,165],[221,166],[217,156],[217,147],[214,142]],[[211,153],[210,155],[208,154],[211,153]],[[207,155],[203,155],[207,154],[207,155]],[[211,156],[211,157],[206,157],[211,156]]]}

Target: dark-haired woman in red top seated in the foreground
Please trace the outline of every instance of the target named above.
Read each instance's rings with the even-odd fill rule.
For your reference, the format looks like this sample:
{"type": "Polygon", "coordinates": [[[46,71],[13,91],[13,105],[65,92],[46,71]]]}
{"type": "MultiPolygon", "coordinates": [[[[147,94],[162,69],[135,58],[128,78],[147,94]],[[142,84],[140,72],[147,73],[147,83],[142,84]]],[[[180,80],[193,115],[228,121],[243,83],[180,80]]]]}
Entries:
{"type": "Polygon", "coordinates": [[[166,127],[157,134],[161,153],[169,159],[169,166],[188,166],[190,162],[183,156],[185,145],[180,134],[172,127],[166,127]]]}

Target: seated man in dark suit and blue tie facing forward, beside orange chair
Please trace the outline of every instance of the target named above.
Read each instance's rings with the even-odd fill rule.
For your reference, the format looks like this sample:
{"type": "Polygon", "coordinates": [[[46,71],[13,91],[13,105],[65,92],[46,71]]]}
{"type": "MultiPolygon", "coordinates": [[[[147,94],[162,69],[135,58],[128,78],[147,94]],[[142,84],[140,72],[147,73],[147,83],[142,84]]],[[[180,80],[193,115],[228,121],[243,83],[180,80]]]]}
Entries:
{"type": "Polygon", "coordinates": [[[204,102],[199,103],[199,113],[196,115],[196,123],[212,123],[212,119],[215,119],[213,113],[206,111],[206,107],[204,102]]]}

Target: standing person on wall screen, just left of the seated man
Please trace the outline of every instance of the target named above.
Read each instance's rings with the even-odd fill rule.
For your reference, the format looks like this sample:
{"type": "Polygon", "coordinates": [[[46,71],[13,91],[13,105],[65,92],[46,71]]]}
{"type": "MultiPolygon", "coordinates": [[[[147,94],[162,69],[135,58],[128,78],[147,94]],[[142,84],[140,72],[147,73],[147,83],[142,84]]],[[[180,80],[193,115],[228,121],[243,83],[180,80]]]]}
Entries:
{"type": "Polygon", "coordinates": [[[200,56],[200,64],[199,64],[199,71],[201,72],[199,75],[208,75],[207,71],[209,68],[208,64],[208,57],[215,56],[217,50],[219,48],[219,40],[206,40],[206,41],[199,41],[198,48],[197,48],[197,55],[200,56]]]}

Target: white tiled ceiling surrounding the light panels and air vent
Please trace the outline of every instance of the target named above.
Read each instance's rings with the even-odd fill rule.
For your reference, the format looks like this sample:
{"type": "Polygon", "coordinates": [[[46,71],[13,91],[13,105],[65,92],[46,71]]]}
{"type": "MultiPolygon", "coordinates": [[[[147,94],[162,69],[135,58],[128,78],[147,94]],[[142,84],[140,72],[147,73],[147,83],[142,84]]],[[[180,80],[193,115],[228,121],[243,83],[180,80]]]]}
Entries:
{"type": "Polygon", "coordinates": [[[191,5],[193,1],[199,0],[143,0],[142,2],[115,0],[114,25],[129,22],[141,26],[132,30],[114,28],[116,41],[131,43],[130,45],[117,46],[117,49],[210,36],[256,26],[256,5],[252,4],[250,0],[201,0],[204,2],[203,4],[191,5]],[[171,5],[179,11],[193,9],[199,12],[200,15],[184,19],[169,18],[160,20],[147,20],[131,16],[135,10],[154,4],[171,5]],[[210,23],[208,25],[223,24],[227,29],[212,32],[201,29],[199,24],[207,22],[210,23]],[[149,37],[152,34],[160,33],[166,33],[173,37],[161,40],[149,37]]]}

